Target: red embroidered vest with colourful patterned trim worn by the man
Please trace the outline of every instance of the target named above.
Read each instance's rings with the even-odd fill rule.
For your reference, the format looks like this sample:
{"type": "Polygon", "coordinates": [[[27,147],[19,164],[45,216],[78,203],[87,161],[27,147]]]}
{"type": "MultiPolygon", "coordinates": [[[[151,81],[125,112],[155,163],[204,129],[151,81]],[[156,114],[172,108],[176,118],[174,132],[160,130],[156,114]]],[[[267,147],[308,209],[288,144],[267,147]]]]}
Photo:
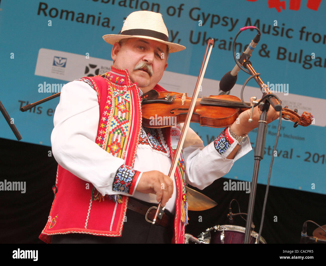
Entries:
{"type": "MultiPolygon", "coordinates": [[[[113,156],[124,159],[126,165],[133,167],[141,131],[139,88],[137,84],[131,84],[126,70],[111,66],[111,71],[117,74],[117,76],[114,76],[114,80],[110,72],[105,74],[105,78],[101,76],[83,78],[87,79],[87,83],[97,92],[100,120],[96,143],[113,156]],[[125,76],[125,79],[120,78],[119,82],[117,82],[118,78],[116,77],[118,76],[125,76]],[[121,138],[119,143],[115,141],[114,149],[112,149],[112,137],[110,138],[110,136],[112,136],[113,129],[110,127],[110,124],[112,124],[111,121],[114,113],[121,111],[122,106],[127,109],[127,126],[126,124],[117,126],[120,126],[121,130],[126,130],[127,132],[123,134],[125,137],[121,138]],[[103,123],[101,117],[107,117],[106,123],[103,123]]],[[[165,91],[159,85],[156,85],[154,89],[165,91]]],[[[162,132],[172,157],[174,153],[171,148],[170,127],[162,129],[162,132]]],[[[172,240],[174,243],[184,242],[185,224],[187,223],[184,172],[185,167],[181,156],[175,172],[177,198],[174,239],[172,240]]],[[[39,239],[46,243],[51,243],[52,235],[68,233],[86,233],[108,237],[122,235],[128,196],[122,196],[122,203],[117,203],[109,198],[101,201],[95,200],[94,194],[96,189],[92,184],[90,184],[90,189],[85,189],[86,183],[86,181],[58,165],[55,187],[53,189],[55,197],[48,222],[42,230],[39,239]]],[[[132,194],[132,192],[129,193],[132,194]]]]}

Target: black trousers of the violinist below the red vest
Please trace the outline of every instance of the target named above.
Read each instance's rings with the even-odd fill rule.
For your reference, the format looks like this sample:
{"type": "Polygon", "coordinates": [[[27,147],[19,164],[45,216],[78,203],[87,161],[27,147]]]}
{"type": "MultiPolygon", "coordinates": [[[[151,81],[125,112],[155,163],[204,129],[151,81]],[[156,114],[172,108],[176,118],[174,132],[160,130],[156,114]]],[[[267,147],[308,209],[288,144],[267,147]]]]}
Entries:
{"type": "MultiPolygon", "coordinates": [[[[139,201],[139,200],[138,200],[139,201]]],[[[141,203],[156,206],[151,203],[140,201],[141,203]]],[[[52,244],[65,243],[171,243],[173,237],[174,215],[165,211],[170,216],[169,227],[152,225],[145,220],[145,216],[127,209],[126,222],[123,225],[121,237],[95,236],[90,234],[60,234],[52,236],[52,244]]]]}

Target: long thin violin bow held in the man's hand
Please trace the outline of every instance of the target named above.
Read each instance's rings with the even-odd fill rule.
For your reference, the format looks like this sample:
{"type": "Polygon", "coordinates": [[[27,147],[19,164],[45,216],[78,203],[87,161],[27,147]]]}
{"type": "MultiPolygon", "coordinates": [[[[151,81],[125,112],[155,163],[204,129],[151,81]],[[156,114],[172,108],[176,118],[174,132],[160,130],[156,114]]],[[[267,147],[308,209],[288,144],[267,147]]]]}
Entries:
{"type": "MultiPolygon", "coordinates": [[[[180,136],[180,139],[179,139],[179,142],[178,142],[178,146],[177,146],[177,148],[175,150],[174,157],[173,157],[173,160],[172,160],[172,164],[171,164],[171,167],[170,167],[170,171],[169,171],[169,177],[170,178],[174,178],[175,169],[177,167],[177,163],[178,163],[179,158],[180,158],[180,153],[181,153],[184,141],[185,141],[186,133],[187,133],[189,125],[190,125],[190,119],[192,117],[192,113],[193,113],[195,105],[196,105],[196,100],[197,100],[197,97],[198,97],[198,94],[199,94],[199,89],[200,89],[202,80],[204,78],[204,74],[205,74],[205,71],[206,71],[206,67],[207,67],[207,64],[208,64],[209,57],[211,55],[213,44],[214,44],[214,39],[208,40],[205,55],[204,55],[204,58],[203,58],[203,62],[201,63],[200,72],[199,72],[199,76],[198,76],[198,79],[197,79],[196,87],[195,87],[195,90],[194,90],[194,93],[193,93],[193,96],[192,96],[192,99],[191,99],[191,102],[190,102],[190,107],[188,109],[188,114],[187,114],[187,116],[185,118],[185,124],[184,124],[184,127],[183,127],[182,131],[181,131],[181,136],[180,136]],[[208,51],[208,49],[209,49],[209,51],[208,51]]],[[[165,207],[162,208],[162,211],[164,211],[164,209],[165,209],[165,207]]],[[[160,210],[161,210],[161,202],[159,202],[159,204],[157,206],[156,213],[155,213],[155,216],[154,216],[154,219],[153,219],[153,222],[152,222],[153,225],[155,224],[155,222],[157,220],[157,216],[159,215],[160,210]]],[[[160,215],[161,215],[161,213],[160,213],[160,215]]]]}

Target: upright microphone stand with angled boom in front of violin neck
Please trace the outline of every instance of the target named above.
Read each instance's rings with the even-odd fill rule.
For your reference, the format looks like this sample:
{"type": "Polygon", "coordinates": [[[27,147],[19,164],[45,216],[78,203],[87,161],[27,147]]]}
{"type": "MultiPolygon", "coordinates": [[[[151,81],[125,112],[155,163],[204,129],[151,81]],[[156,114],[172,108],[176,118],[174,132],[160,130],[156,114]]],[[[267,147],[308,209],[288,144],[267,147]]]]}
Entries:
{"type": "MultiPolygon", "coordinates": [[[[250,57],[250,56],[249,56],[250,57]]],[[[257,72],[251,66],[251,62],[248,60],[249,57],[244,53],[240,56],[240,59],[243,63],[243,66],[249,70],[251,75],[256,75],[257,72]]],[[[263,83],[259,76],[254,77],[256,82],[258,83],[260,89],[264,89],[263,96],[267,94],[271,94],[269,88],[263,83]]],[[[255,204],[255,197],[256,197],[256,188],[257,188],[257,180],[258,180],[258,172],[259,172],[259,164],[260,160],[264,157],[264,148],[265,148],[265,140],[266,140],[266,133],[267,133],[267,111],[270,107],[273,106],[275,111],[280,111],[282,109],[281,103],[274,97],[266,98],[264,101],[264,105],[260,107],[262,111],[260,118],[259,118],[259,125],[257,131],[257,138],[256,138],[256,146],[255,146],[255,163],[254,163],[254,171],[251,181],[251,193],[249,197],[249,204],[248,204],[248,215],[247,215],[247,222],[245,227],[245,234],[244,234],[244,243],[248,244],[250,240],[250,232],[251,232],[251,224],[252,224],[252,216],[254,212],[254,204],[255,204]]]]}

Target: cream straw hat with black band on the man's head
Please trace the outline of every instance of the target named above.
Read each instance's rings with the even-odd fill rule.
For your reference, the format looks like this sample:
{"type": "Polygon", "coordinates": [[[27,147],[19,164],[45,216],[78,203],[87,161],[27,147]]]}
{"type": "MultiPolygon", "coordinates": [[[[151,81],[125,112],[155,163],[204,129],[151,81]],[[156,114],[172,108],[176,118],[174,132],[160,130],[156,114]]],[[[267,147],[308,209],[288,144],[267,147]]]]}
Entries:
{"type": "Polygon", "coordinates": [[[152,11],[132,12],[122,26],[120,34],[107,34],[103,39],[110,44],[126,38],[142,38],[159,41],[169,46],[169,52],[179,52],[185,46],[169,42],[169,33],[166,28],[162,14],[152,11]]]}

